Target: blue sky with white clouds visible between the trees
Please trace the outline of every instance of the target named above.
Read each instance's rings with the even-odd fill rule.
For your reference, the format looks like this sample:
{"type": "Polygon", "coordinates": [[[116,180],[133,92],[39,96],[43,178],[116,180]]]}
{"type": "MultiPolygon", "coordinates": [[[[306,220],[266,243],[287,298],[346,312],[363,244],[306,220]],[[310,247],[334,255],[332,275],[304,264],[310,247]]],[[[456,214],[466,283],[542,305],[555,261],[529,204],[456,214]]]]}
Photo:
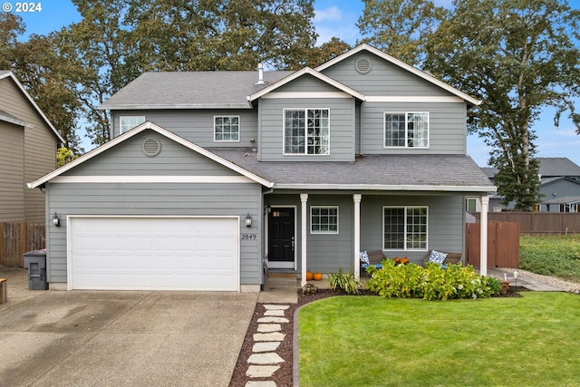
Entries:
{"type": "MultiPolygon", "coordinates": [[[[435,3],[449,6],[451,1],[435,0],[435,3]]],[[[16,12],[15,0],[0,0],[0,3],[4,11],[8,7],[10,12],[22,16],[26,24],[26,34],[48,34],[81,20],[81,16],[70,0],[35,2],[34,5],[40,5],[40,9],[35,9],[35,12],[30,12],[31,10],[24,12],[24,9],[16,12]]],[[[333,36],[348,44],[356,44],[361,39],[356,23],[362,15],[363,8],[364,5],[360,0],[314,0],[314,26],[319,35],[317,44],[323,44],[333,36]]],[[[576,103],[576,108],[580,110],[580,102],[576,103]]],[[[560,126],[556,129],[553,120],[554,112],[553,109],[547,108],[542,112],[540,120],[534,123],[532,129],[537,135],[536,157],[566,157],[580,165],[580,135],[575,133],[574,125],[565,117],[561,119],[560,126]]],[[[82,145],[85,150],[90,150],[92,147],[89,140],[82,141],[82,145]]],[[[477,135],[468,136],[467,150],[468,155],[480,167],[487,166],[491,149],[477,135]]]]}

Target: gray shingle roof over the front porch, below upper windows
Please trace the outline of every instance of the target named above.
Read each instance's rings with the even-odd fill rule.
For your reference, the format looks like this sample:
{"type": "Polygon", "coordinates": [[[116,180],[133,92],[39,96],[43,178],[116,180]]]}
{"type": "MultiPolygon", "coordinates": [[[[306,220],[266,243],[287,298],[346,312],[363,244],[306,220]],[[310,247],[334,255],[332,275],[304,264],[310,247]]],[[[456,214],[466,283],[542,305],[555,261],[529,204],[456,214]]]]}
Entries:
{"type": "Polygon", "coordinates": [[[475,161],[463,155],[369,155],[354,162],[260,162],[252,150],[210,151],[276,185],[485,187],[494,190],[475,161]]]}

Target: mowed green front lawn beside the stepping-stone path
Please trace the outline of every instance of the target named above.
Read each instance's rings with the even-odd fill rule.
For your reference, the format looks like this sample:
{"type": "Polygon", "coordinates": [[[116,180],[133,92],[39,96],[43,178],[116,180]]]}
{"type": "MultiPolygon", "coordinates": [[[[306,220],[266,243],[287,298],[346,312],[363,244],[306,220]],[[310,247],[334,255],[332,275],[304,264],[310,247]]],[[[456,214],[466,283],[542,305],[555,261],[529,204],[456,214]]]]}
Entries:
{"type": "Polygon", "coordinates": [[[300,386],[577,386],[580,296],[339,296],[298,314],[300,386]]]}

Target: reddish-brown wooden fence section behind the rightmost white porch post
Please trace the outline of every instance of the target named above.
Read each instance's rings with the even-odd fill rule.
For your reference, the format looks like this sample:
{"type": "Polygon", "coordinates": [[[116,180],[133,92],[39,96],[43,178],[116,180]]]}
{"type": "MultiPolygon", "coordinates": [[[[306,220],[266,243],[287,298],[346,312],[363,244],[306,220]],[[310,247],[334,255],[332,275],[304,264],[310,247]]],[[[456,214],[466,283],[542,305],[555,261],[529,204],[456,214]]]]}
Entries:
{"type": "MultiPolygon", "coordinates": [[[[466,227],[466,262],[480,267],[481,225],[468,223],[466,227]]],[[[488,223],[488,267],[519,267],[519,224],[488,223]]]]}

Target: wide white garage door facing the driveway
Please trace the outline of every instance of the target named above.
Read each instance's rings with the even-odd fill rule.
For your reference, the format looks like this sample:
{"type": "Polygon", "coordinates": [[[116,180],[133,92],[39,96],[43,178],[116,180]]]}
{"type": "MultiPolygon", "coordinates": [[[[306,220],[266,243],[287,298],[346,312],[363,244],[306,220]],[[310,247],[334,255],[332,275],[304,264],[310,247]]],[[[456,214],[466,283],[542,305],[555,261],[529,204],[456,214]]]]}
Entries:
{"type": "Polygon", "coordinates": [[[239,289],[238,218],[68,219],[69,289],[239,289]]]}

